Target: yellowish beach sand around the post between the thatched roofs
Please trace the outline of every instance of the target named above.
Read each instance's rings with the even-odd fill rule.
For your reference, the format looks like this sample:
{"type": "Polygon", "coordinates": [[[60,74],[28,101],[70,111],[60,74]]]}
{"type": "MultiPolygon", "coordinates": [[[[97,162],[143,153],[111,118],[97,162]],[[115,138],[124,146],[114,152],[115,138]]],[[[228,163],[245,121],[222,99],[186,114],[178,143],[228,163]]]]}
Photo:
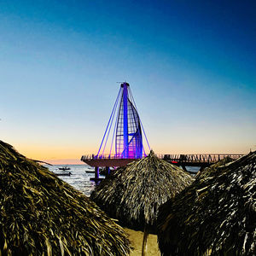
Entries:
{"type": "MultiPolygon", "coordinates": [[[[134,250],[131,252],[131,256],[142,255],[143,232],[136,231],[136,230],[129,230],[127,228],[125,228],[125,232],[129,235],[128,238],[131,241],[131,246],[134,247],[134,250]]],[[[147,255],[160,256],[156,235],[149,234],[148,236],[147,255]]]]}

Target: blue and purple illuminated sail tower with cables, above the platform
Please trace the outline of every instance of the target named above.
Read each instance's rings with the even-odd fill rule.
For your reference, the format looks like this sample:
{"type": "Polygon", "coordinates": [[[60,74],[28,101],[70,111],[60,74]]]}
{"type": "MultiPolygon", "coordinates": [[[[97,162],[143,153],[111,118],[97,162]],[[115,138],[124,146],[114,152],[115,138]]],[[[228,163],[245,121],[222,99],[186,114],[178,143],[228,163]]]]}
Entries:
{"type": "MultiPolygon", "coordinates": [[[[108,126],[96,158],[143,158],[143,156],[146,156],[143,147],[143,135],[148,144],[143,124],[139,118],[136,104],[131,94],[130,84],[125,82],[120,86],[119,94],[114,103],[110,119],[108,120],[108,126]],[[113,119],[115,119],[114,125],[113,119]],[[108,137],[111,131],[113,135],[110,143],[108,142],[108,137]],[[114,140],[115,142],[113,143],[114,140]],[[106,151],[109,154],[106,154],[106,151]]],[[[148,149],[150,150],[149,144],[148,149]]]]}

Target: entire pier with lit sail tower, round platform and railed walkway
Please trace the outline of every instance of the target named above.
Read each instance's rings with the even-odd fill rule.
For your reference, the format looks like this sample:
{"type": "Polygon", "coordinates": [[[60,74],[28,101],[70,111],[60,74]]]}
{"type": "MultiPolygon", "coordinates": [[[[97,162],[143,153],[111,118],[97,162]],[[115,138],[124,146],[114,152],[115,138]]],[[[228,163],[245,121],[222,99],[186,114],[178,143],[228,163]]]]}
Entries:
{"type": "MultiPolygon", "coordinates": [[[[84,163],[95,167],[95,177],[91,178],[91,180],[96,183],[101,180],[99,177],[100,167],[105,168],[108,175],[110,167],[126,166],[132,161],[146,157],[143,137],[148,146],[148,151],[150,151],[148,138],[131,94],[130,84],[124,82],[120,85],[119,93],[97,154],[83,155],[81,157],[84,163]],[[112,138],[108,139],[111,131],[112,138]]],[[[187,166],[198,166],[202,171],[204,168],[226,157],[236,160],[241,155],[243,154],[157,154],[160,159],[166,160],[175,166],[181,166],[187,172],[189,172],[186,168],[187,166]]]]}

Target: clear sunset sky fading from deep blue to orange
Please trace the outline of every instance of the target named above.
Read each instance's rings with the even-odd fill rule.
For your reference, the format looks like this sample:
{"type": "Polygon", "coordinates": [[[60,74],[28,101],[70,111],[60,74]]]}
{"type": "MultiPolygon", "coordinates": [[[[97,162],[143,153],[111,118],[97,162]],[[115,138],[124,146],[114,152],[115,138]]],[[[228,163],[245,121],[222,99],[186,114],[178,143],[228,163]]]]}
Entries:
{"type": "Polygon", "coordinates": [[[158,154],[256,150],[255,1],[1,1],[0,139],[96,154],[127,81],[158,154]]]}

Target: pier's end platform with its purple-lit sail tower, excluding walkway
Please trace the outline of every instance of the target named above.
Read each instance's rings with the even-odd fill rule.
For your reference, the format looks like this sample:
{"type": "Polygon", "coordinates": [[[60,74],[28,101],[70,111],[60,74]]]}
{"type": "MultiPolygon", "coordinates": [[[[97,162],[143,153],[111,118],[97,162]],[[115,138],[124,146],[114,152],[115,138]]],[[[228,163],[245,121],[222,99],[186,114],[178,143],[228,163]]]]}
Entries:
{"type": "Polygon", "coordinates": [[[81,158],[86,164],[95,167],[95,177],[92,180],[100,180],[99,167],[105,167],[108,173],[109,167],[125,166],[133,160],[147,156],[143,138],[149,152],[148,138],[131,94],[130,84],[124,82],[120,84],[97,154],[83,155],[81,158]],[[110,134],[112,138],[109,138],[110,134]]]}

